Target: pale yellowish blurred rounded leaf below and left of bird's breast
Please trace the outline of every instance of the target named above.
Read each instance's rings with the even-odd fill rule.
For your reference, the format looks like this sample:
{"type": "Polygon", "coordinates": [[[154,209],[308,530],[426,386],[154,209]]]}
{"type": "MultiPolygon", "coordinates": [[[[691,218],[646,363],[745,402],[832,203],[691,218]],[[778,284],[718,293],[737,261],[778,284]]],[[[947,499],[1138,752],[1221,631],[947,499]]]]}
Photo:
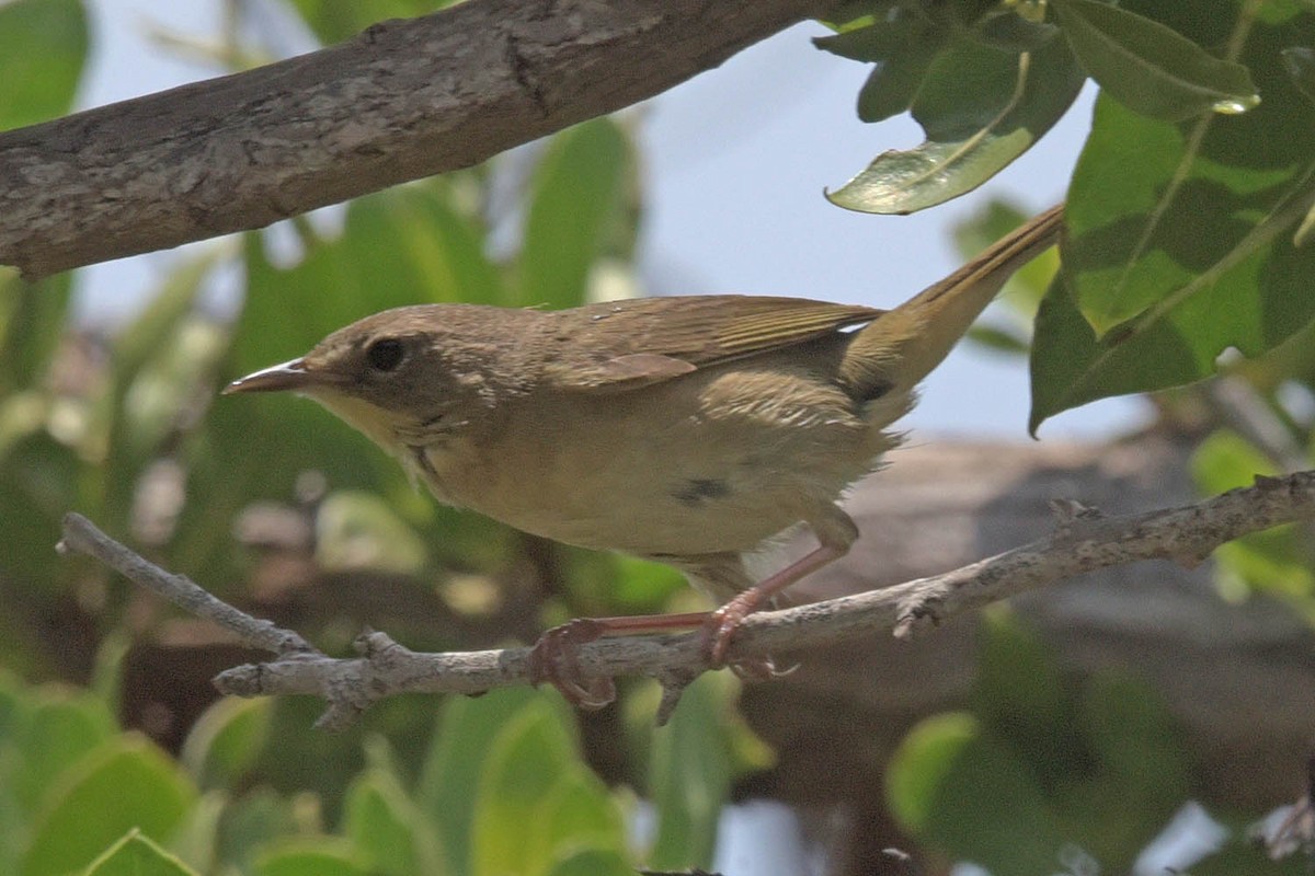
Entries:
{"type": "Polygon", "coordinates": [[[316,512],[316,559],[325,570],[414,575],[425,569],[426,556],[416,531],[373,493],[338,490],[316,512]]]}

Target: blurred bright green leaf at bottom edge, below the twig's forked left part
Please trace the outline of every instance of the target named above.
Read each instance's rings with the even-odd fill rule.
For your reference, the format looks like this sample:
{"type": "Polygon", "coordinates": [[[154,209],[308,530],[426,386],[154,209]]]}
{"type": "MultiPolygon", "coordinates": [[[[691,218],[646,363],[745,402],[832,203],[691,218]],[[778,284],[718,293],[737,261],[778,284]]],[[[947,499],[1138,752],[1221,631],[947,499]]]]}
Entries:
{"type": "Polygon", "coordinates": [[[380,876],[442,876],[437,834],[392,772],[372,767],[347,791],[343,833],[380,876]]]}

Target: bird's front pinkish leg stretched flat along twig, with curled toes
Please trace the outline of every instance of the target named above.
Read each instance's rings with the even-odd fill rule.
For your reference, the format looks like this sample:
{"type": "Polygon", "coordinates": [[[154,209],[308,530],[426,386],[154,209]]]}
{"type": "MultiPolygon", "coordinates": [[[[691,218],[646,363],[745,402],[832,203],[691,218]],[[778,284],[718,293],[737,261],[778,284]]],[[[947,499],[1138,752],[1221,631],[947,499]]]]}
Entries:
{"type": "Polygon", "coordinates": [[[697,629],[707,623],[707,612],[684,615],[635,615],[633,617],[579,617],[554,626],[530,650],[530,682],[552,684],[575,705],[601,709],[617,699],[617,686],[606,676],[585,680],[580,668],[580,646],[604,636],[656,633],[671,629],[697,629]]]}

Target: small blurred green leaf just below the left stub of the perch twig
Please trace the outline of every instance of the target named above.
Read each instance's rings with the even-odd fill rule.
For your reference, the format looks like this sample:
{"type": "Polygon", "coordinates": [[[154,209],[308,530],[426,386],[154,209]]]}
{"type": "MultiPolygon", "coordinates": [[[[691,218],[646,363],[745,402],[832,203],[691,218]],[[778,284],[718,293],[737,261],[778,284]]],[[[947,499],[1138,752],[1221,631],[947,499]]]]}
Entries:
{"type": "Polygon", "coordinates": [[[201,788],[233,787],[252,767],[270,732],[272,700],[216,700],[183,741],[179,763],[201,788]]]}

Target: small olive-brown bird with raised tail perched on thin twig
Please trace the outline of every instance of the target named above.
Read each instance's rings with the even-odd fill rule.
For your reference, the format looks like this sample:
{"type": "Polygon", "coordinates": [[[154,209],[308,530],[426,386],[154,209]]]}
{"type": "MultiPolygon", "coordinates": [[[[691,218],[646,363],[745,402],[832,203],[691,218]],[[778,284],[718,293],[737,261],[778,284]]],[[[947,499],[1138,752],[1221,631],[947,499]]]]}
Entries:
{"type": "Polygon", "coordinates": [[[721,666],[746,615],[846,554],[859,532],[836,499],[898,443],[885,429],[918,382],[1061,229],[1056,206],[894,310],[748,296],[398,307],[225,393],[309,395],[442,502],[669,563],[723,603],[544,634],[537,680],[597,707],[611,682],[580,678],[577,642],[702,624],[721,666]],[[744,557],[800,523],[818,548],[755,580],[744,557]]]}

